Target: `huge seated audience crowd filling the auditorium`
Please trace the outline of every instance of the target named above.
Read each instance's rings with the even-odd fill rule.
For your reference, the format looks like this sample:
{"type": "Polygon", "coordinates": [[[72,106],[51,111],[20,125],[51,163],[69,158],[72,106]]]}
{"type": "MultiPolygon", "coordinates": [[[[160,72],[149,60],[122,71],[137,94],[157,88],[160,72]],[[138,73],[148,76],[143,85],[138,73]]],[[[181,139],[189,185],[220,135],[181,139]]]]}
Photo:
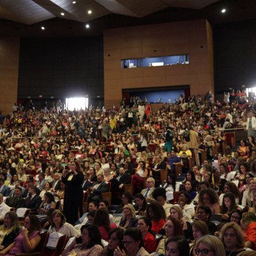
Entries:
{"type": "Polygon", "coordinates": [[[42,229],[76,237],[62,255],[255,255],[256,100],[244,92],[180,95],[156,112],[139,97],[109,110],[15,104],[0,129],[0,255],[34,252],[42,229]],[[248,136],[227,145],[235,129],[248,136]]]}

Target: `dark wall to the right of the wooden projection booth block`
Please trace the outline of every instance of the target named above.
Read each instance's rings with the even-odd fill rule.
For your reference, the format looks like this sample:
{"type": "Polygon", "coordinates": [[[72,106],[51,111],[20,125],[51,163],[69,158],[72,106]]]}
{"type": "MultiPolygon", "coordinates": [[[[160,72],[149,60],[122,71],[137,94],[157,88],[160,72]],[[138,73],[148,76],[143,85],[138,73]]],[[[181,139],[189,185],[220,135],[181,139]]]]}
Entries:
{"type": "Polygon", "coordinates": [[[215,93],[256,85],[256,20],[213,28],[215,93]]]}

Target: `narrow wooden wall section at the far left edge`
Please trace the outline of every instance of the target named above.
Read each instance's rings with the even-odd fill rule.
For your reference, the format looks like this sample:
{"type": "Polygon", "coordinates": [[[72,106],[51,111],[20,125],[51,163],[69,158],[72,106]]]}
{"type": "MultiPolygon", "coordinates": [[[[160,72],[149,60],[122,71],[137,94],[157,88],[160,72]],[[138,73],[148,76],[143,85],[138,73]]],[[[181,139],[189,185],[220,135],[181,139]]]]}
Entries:
{"type": "Polygon", "coordinates": [[[12,112],[12,106],[17,102],[19,49],[19,38],[0,38],[0,108],[3,115],[12,112]]]}

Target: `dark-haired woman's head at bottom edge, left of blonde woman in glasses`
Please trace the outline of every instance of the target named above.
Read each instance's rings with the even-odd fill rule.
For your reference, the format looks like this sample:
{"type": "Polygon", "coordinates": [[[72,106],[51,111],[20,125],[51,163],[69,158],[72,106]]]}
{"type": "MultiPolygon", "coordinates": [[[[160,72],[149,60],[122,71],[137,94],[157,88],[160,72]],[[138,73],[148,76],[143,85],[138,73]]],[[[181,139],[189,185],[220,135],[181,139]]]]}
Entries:
{"type": "Polygon", "coordinates": [[[166,255],[184,256],[189,255],[189,243],[182,236],[175,236],[166,243],[166,255]]]}

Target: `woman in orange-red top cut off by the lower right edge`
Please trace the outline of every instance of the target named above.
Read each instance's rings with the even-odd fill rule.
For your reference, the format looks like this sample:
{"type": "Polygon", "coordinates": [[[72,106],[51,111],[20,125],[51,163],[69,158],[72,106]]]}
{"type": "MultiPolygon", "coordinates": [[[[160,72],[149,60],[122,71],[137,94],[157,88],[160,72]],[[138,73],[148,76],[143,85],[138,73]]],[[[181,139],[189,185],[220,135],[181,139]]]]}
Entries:
{"type": "Polygon", "coordinates": [[[241,220],[244,230],[245,247],[256,250],[256,216],[253,212],[244,212],[241,220]]]}

